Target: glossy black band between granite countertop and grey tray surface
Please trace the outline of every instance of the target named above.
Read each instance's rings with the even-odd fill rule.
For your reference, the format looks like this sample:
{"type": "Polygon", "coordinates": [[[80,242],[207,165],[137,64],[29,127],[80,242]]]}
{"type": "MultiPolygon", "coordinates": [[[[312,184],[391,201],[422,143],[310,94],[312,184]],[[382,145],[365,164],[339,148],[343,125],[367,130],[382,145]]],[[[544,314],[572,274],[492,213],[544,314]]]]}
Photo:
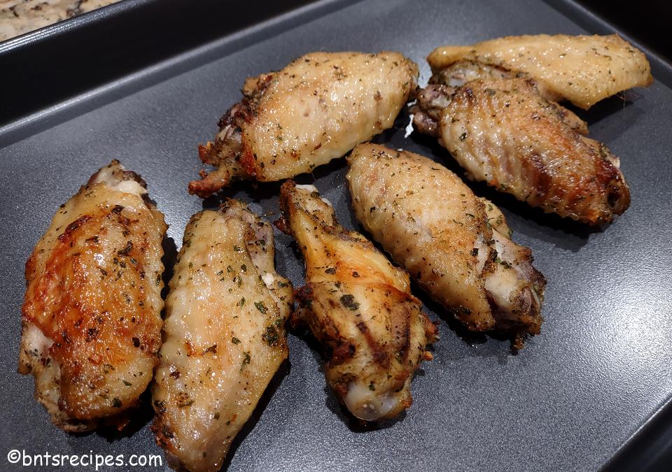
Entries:
{"type": "Polygon", "coordinates": [[[2,41],[0,126],[307,3],[124,0],[2,41]]]}

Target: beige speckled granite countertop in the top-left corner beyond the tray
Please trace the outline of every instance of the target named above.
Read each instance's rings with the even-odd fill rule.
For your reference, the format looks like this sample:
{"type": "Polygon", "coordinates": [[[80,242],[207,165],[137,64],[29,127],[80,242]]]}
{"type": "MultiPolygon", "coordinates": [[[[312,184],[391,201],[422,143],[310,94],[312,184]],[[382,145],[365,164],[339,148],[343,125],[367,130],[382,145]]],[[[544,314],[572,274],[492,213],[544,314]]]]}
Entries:
{"type": "Polygon", "coordinates": [[[0,0],[0,41],[119,0],[0,0]]]}

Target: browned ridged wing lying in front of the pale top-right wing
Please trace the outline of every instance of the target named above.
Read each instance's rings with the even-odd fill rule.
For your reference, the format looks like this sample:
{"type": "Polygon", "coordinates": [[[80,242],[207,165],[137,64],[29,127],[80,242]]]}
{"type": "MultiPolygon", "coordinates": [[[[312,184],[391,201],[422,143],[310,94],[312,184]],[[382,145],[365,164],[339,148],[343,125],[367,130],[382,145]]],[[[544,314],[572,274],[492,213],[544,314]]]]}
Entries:
{"type": "Polygon", "coordinates": [[[437,136],[468,176],[531,206],[599,224],[630,205],[617,157],[533,80],[428,85],[413,111],[414,127],[437,136]]]}

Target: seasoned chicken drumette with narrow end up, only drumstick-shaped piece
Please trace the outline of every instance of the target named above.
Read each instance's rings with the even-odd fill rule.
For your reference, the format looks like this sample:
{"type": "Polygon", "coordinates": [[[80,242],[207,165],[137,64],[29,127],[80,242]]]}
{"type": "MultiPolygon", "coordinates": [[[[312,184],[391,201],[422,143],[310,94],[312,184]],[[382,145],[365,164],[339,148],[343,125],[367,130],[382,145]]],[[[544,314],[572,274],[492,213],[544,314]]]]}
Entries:
{"type": "Polygon", "coordinates": [[[411,405],[410,382],[435,326],[410,293],[408,274],[370,241],[347,231],[312,185],[289,180],[279,227],[293,234],[306,263],[296,317],[328,358],[327,382],[356,417],[379,421],[411,405]]]}

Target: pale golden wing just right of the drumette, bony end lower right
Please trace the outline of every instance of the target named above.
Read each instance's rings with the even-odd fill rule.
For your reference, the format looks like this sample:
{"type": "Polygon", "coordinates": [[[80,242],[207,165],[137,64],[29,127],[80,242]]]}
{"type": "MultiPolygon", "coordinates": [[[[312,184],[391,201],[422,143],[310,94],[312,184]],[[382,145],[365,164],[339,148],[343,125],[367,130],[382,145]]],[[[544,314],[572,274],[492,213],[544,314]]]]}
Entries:
{"type": "Polygon", "coordinates": [[[347,180],[358,220],[469,329],[538,334],[545,279],[504,216],[454,173],[408,151],[358,145],[347,180]]]}

